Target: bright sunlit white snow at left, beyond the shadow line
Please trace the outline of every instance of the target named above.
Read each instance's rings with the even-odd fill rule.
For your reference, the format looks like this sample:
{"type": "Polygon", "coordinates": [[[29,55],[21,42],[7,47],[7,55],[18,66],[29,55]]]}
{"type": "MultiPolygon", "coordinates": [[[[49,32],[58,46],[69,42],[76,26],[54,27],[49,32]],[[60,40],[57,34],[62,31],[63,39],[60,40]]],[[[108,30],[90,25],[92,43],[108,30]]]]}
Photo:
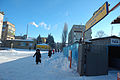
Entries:
{"type": "MultiPolygon", "coordinates": [[[[33,56],[35,50],[27,50],[27,49],[8,49],[8,50],[0,50],[0,63],[13,61],[19,58],[24,58],[28,56],[33,56]]],[[[41,51],[41,53],[47,53],[47,51],[41,51]]]]}

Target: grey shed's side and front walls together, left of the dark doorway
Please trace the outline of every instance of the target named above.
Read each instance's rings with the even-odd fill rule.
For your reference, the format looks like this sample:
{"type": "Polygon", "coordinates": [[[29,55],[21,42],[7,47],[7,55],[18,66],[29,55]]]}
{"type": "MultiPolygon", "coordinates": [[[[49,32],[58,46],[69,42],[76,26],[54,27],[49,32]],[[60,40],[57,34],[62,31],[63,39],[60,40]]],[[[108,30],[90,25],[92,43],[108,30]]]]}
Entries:
{"type": "Polygon", "coordinates": [[[108,74],[108,55],[105,45],[82,44],[78,53],[78,73],[80,75],[108,74]]]}

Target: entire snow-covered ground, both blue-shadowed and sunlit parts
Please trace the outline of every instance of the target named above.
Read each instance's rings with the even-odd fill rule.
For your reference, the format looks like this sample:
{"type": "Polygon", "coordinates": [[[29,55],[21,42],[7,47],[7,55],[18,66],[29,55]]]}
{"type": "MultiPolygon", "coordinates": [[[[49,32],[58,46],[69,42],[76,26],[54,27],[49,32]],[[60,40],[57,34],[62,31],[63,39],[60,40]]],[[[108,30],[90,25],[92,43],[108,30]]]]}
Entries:
{"type": "Polygon", "coordinates": [[[118,71],[104,76],[83,76],[69,69],[69,62],[62,53],[48,58],[42,51],[42,63],[36,65],[34,50],[0,50],[0,80],[117,80],[118,71]]]}

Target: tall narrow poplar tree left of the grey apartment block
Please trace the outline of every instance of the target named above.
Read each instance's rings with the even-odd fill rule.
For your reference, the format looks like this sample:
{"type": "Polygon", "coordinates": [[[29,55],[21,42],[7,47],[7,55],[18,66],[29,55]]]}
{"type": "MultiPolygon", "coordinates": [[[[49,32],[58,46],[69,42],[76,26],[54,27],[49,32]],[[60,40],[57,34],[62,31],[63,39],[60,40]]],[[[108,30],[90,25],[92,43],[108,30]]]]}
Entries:
{"type": "Polygon", "coordinates": [[[62,33],[62,48],[65,47],[65,44],[67,41],[67,33],[68,33],[68,25],[67,23],[65,23],[63,33],[62,33]]]}

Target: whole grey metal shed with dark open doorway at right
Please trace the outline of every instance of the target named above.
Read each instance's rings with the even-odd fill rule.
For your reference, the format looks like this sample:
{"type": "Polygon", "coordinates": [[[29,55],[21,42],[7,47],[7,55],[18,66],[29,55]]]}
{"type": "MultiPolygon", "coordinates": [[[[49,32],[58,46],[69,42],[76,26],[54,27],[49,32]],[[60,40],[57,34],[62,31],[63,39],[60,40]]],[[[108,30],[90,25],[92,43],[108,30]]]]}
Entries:
{"type": "Polygon", "coordinates": [[[106,75],[109,69],[120,69],[120,37],[92,39],[89,44],[80,44],[78,51],[80,75],[106,75]]]}

